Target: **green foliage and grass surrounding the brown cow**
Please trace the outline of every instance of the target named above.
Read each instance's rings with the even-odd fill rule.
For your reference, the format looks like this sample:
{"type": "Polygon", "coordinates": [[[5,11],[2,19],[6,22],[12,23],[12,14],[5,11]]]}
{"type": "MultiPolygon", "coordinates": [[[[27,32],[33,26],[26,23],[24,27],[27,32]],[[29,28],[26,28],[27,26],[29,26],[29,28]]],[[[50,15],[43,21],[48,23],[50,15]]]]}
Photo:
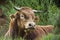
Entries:
{"type": "MultiPolygon", "coordinates": [[[[42,40],[60,40],[60,8],[55,5],[53,0],[5,0],[5,2],[1,1],[0,8],[2,8],[3,13],[8,18],[7,28],[9,24],[9,15],[15,13],[16,11],[13,8],[14,6],[27,6],[31,7],[32,9],[42,10],[42,13],[35,13],[40,18],[38,24],[54,25],[55,28],[53,32],[56,33],[56,35],[49,34],[48,36],[43,37],[42,40]]],[[[7,30],[7,28],[5,29],[7,30]]],[[[1,28],[1,30],[3,30],[3,27],[1,28]]],[[[4,33],[1,31],[0,34],[4,35],[4,33]]],[[[3,40],[3,37],[0,37],[0,40],[3,40]]]]}

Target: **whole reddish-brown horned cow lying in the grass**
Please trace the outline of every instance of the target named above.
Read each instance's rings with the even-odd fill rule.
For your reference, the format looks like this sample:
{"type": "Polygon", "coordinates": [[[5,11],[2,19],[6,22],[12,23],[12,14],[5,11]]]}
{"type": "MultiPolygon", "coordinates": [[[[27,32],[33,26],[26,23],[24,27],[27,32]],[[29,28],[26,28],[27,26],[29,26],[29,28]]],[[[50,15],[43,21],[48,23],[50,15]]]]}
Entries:
{"type": "Polygon", "coordinates": [[[39,19],[35,16],[34,12],[38,11],[29,7],[15,7],[15,9],[17,12],[10,15],[9,30],[5,34],[5,37],[12,37],[12,40],[16,37],[21,37],[25,40],[37,40],[37,38],[41,38],[43,35],[52,32],[52,25],[36,25],[39,19]]]}

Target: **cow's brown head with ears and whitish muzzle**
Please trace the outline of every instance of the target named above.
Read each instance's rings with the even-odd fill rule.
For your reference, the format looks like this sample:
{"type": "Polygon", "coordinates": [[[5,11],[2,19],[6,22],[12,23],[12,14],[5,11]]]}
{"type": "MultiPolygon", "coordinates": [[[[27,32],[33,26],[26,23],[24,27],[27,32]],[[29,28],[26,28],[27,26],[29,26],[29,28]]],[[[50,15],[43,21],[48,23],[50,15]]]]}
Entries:
{"type": "Polygon", "coordinates": [[[15,8],[17,12],[11,15],[12,20],[17,21],[17,25],[21,29],[33,29],[38,21],[34,11],[28,7],[22,7],[20,9],[15,8]]]}

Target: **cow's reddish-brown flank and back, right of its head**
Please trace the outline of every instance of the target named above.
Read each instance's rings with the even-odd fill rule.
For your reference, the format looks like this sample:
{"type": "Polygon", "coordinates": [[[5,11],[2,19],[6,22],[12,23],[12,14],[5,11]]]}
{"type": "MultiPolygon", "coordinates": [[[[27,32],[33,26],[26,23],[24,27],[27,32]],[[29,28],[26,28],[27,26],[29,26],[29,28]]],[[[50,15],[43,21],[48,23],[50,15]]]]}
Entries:
{"type": "Polygon", "coordinates": [[[40,40],[42,36],[51,33],[52,30],[53,30],[52,25],[45,25],[45,26],[36,25],[35,29],[30,33],[27,33],[25,37],[27,40],[40,40]]]}

